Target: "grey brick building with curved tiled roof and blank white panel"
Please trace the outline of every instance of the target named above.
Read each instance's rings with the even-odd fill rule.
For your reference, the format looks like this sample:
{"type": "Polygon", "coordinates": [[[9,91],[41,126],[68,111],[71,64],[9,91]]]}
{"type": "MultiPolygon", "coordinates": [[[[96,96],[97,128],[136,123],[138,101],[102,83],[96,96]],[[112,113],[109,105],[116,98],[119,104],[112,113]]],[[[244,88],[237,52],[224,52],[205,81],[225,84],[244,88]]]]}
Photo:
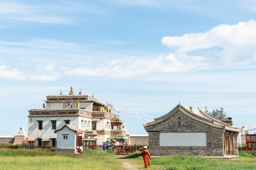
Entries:
{"type": "Polygon", "coordinates": [[[154,122],[144,124],[151,155],[238,155],[239,128],[200,109],[178,104],[154,122]]]}

